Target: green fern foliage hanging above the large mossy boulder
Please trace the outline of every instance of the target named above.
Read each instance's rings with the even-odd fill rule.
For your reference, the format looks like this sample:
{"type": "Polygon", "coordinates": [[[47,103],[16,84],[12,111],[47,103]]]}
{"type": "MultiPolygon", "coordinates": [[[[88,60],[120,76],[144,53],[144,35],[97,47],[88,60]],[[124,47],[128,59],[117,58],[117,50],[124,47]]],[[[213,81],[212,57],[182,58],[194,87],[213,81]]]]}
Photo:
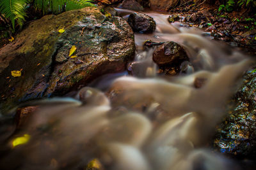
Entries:
{"type": "Polygon", "coordinates": [[[63,11],[76,10],[87,6],[95,6],[90,0],[0,0],[0,14],[6,20],[10,20],[13,29],[15,22],[22,26],[25,21],[26,6],[29,3],[36,11],[42,11],[45,15],[47,13],[58,14],[63,11]]]}

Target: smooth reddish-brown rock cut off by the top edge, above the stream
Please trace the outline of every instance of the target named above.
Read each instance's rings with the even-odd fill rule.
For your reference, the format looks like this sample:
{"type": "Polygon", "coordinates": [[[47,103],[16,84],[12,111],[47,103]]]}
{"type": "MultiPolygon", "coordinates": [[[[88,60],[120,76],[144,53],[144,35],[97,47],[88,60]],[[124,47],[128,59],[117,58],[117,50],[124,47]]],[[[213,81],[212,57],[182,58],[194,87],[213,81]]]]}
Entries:
{"type": "Polygon", "coordinates": [[[168,11],[178,3],[179,0],[149,0],[150,9],[156,11],[168,11]]]}

